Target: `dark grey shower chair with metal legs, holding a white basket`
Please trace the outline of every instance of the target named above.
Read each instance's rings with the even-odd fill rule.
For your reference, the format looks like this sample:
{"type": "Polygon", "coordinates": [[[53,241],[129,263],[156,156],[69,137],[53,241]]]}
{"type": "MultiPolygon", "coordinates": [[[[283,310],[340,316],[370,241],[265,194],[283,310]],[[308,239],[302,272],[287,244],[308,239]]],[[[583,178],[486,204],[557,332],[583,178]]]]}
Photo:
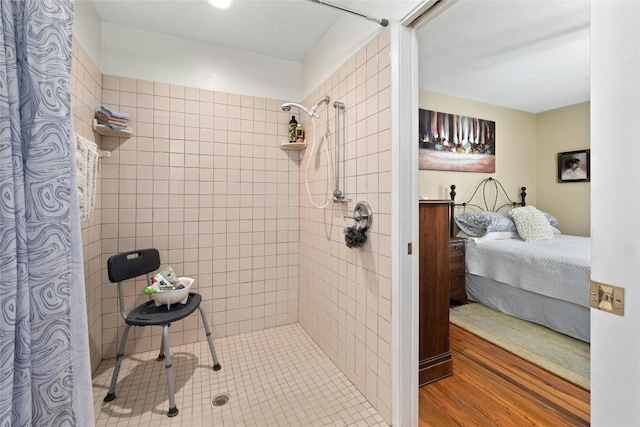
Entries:
{"type": "MultiPolygon", "coordinates": [[[[107,272],[109,275],[109,281],[111,283],[118,283],[118,300],[120,303],[120,314],[125,321],[125,328],[122,334],[122,340],[120,341],[120,347],[118,348],[118,355],[116,357],[116,365],[113,369],[113,377],[111,378],[111,385],[109,391],[104,398],[105,402],[111,402],[116,398],[115,388],[118,381],[118,373],[120,371],[120,365],[124,357],[124,348],[127,343],[127,335],[131,326],[162,326],[162,343],[160,344],[160,352],[157,360],[165,360],[165,368],[167,371],[167,389],[169,393],[169,411],[167,416],[175,417],[178,415],[178,408],[176,407],[174,390],[173,390],[173,375],[171,370],[171,346],[169,343],[169,326],[171,323],[184,319],[196,310],[200,311],[202,317],[202,323],[206,332],[207,341],[209,342],[209,350],[211,351],[211,357],[213,359],[213,370],[219,371],[222,369],[218,358],[216,357],[216,351],[213,346],[213,340],[211,338],[211,330],[204,311],[200,307],[202,302],[202,296],[195,292],[190,292],[187,302],[185,304],[172,304],[171,309],[167,309],[166,305],[156,306],[155,301],[152,299],[138,305],[132,311],[125,315],[124,313],[124,292],[122,284],[128,279],[135,279],[136,277],[146,275],[147,285],[150,285],[150,273],[156,271],[160,267],[160,254],[157,249],[140,249],[129,252],[122,252],[117,255],[111,256],[107,260],[107,272]]],[[[132,281],[131,283],[134,283],[132,281]]]]}

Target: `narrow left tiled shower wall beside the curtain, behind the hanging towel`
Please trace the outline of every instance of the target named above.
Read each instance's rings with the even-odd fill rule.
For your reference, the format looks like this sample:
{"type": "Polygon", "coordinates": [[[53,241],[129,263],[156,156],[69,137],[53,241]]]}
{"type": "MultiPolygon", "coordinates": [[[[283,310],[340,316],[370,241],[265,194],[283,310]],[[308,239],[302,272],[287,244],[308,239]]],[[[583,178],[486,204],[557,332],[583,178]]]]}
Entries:
{"type": "MultiPolygon", "coordinates": [[[[71,65],[71,106],[73,127],[79,135],[100,146],[100,135],[92,130],[93,115],[100,107],[102,73],[77,42],[73,43],[71,65]]],[[[102,259],[100,257],[100,179],[96,206],[89,221],[82,222],[85,293],[91,370],[102,361],[102,259]]]]}

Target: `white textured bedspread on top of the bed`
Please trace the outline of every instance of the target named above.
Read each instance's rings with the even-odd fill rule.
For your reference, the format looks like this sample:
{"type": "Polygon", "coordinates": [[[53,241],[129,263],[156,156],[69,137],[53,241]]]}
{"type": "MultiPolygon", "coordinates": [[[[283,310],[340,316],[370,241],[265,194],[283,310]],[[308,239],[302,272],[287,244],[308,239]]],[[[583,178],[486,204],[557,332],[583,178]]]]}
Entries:
{"type": "Polygon", "coordinates": [[[588,237],[563,234],[542,242],[468,242],[465,264],[468,273],[589,307],[590,252],[588,237]]]}

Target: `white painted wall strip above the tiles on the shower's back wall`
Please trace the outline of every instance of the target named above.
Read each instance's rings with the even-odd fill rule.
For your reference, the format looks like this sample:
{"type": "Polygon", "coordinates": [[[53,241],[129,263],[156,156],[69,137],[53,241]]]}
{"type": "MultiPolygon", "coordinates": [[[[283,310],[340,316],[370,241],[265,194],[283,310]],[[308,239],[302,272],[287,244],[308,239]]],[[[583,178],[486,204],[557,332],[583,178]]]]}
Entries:
{"type": "Polygon", "coordinates": [[[111,23],[102,72],[261,98],[301,99],[300,64],[111,23]]]}

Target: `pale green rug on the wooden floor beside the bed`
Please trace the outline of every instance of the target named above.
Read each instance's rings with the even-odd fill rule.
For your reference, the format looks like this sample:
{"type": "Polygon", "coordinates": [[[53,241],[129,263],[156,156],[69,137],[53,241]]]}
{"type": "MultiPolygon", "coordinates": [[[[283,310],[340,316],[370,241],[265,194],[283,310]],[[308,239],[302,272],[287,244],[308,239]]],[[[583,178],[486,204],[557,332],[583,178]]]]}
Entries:
{"type": "Polygon", "coordinates": [[[450,310],[450,321],[529,362],[590,390],[590,345],[544,326],[471,303],[450,310]]]}

